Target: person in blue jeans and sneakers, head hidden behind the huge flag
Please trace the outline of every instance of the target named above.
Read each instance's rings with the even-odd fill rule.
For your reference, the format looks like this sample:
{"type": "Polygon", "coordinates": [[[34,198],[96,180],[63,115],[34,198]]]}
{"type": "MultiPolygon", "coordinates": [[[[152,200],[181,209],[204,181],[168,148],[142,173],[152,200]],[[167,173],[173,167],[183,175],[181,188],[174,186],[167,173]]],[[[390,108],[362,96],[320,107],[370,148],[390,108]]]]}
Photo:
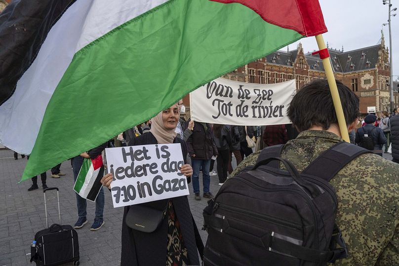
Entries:
{"type": "MultiPolygon", "coordinates": [[[[107,143],[104,143],[94,149],[91,149],[87,152],[82,152],[80,155],[75,156],[72,160],[72,168],[74,171],[74,181],[78,178],[80,168],[83,164],[83,158],[92,158],[95,159],[101,152],[107,148],[107,143]]],[[[104,173],[104,166],[100,168],[99,176],[104,173]]],[[[82,198],[78,193],[76,193],[76,203],[78,205],[78,215],[79,219],[75,223],[75,228],[82,228],[85,224],[87,224],[86,219],[86,199],[82,198]]],[[[94,222],[90,228],[90,230],[98,230],[104,225],[103,219],[103,212],[104,212],[104,190],[101,187],[100,192],[96,198],[96,217],[94,218],[94,222]]]]}

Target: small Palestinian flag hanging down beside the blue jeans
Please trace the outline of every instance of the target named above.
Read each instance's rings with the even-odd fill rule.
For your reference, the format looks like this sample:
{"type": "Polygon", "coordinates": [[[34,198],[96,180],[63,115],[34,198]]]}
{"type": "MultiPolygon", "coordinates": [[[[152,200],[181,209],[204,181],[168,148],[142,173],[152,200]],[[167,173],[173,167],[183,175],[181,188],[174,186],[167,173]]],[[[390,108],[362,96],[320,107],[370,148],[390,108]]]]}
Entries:
{"type": "Polygon", "coordinates": [[[95,201],[101,189],[101,178],[104,176],[103,158],[98,155],[95,159],[84,158],[76,179],[74,190],[82,197],[95,201]]]}

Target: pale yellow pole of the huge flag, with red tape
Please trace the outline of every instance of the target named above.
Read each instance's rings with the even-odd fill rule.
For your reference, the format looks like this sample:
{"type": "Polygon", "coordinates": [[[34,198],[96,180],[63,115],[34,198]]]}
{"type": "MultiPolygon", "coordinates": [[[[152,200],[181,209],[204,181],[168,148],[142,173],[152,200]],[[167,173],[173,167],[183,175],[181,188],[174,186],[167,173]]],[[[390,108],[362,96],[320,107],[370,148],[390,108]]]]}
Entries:
{"type": "MultiPolygon", "coordinates": [[[[316,36],[316,41],[319,46],[319,50],[326,48],[323,36],[321,34],[316,36]]],[[[325,76],[327,76],[328,86],[330,87],[332,101],[334,103],[334,108],[335,108],[335,114],[337,114],[341,137],[344,141],[350,142],[348,128],[346,126],[344,111],[342,110],[341,100],[339,98],[337,83],[335,82],[334,73],[332,71],[330,57],[322,59],[322,62],[324,66],[325,76]]]]}

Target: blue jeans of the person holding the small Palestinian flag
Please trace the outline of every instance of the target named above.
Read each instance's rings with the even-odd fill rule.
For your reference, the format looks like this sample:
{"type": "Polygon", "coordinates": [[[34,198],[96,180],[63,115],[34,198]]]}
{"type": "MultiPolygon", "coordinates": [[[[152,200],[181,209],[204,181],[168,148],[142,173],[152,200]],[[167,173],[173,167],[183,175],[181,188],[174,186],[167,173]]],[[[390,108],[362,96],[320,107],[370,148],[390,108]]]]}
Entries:
{"type": "MultiPolygon", "coordinates": [[[[72,167],[74,168],[74,180],[76,182],[76,179],[78,178],[80,167],[82,166],[83,163],[83,157],[82,156],[75,156],[72,161],[72,167]]],[[[87,212],[86,212],[86,206],[87,202],[85,198],[82,198],[78,193],[76,193],[76,203],[78,205],[78,215],[79,218],[86,218],[87,212]]],[[[104,190],[101,187],[100,192],[98,193],[98,196],[96,198],[96,218],[98,219],[103,219],[103,211],[104,211],[104,190]]]]}

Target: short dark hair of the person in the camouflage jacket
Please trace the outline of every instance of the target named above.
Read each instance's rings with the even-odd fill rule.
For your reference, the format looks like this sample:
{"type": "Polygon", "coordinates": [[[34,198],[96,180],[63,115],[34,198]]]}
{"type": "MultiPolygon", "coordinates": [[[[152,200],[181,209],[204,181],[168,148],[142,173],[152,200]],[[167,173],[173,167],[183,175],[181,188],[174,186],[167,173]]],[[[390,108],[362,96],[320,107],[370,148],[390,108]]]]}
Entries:
{"type": "MultiPolygon", "coordinates": [[[[349,125],[360,114],[359,97],[340,81],[336,82],[346,125],[349,125]]],[[[299,89],[288,106],[287,115],[299,131],[312,126],[327,130],[331,124],[338,124],[327,80],[316,79],[299,89]]]]}

